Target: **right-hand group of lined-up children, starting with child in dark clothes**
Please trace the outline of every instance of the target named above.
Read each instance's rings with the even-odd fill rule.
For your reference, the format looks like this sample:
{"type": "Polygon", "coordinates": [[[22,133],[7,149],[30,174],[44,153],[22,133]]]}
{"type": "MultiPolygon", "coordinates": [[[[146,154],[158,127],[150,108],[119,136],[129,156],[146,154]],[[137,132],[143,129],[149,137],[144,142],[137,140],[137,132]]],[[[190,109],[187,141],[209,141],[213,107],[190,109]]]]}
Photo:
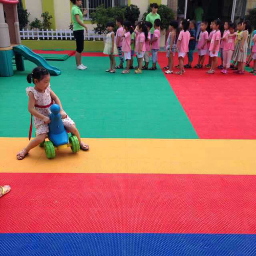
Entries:
{"type": "MultiPolygon", "coordinates": [[[[247,57],[247,50],[248,50],[248,36],[251,32],[249,22],[239,22],[237,25],[237,32],[236,32],[236,24],[232,22],[225,22],[224,23],[224,31],[221,36],[220,32],[220,20],[215,20],[210,24],[211,32],[208,34],[206,31],[208,27],[207,22],[201,23],[201,33],[199,36],[197,50],[199,55],[198,64],[195,68],[201,69],[203,68],[205,56],[209,56],[208,64],[205,65],[206,68],[210,68],[210,71],[207,73],[214,74],[215,69],[217,66],[218,61],[218,54],[217,56],[212,56],[210,53],[212,50],[216,50],[216,52],[220,52],[221,57],[221,65],[218,66],[218,69],[221,69],[223,74],[228,73],[228,69],[231,67],[238,74],[244,74],[244,63],[246,62],[247,57]],[[214,43],[211,44],[211,42],[214,43]],[[215,47],[216,45],[216,47],[215,47]],[[217,57],[217,59],[215,59],[217,57]],[[214,59],[212,59],[214,58],[214,59]],[[214,65],[212,65],[212,60],[214,60],[214,65]],[[237,62],[237,67],[231,65],[231,60],[234,63],[237,62]]],[[[189,33],[190,33],[190,40],[188,45],[188,64],[185,65],[185,68],[191,68],[191,63],[193,61],[193,52],[196,48],[196,30],[195,30],[195,23],[193,21],[189,24],[189,33]]],[[[255,65],[256,65],[256,30],[252,34],[251,40],[251,53],[249,56],[248,61],[250,62],[254,59],[254,68],[251,73],[255,74],[255,65]]],[[[212,51],[213,52],[213,51],[212,51]]],[[[247,66],[249,67],[249,62],[247,62],[247,66]]]]}

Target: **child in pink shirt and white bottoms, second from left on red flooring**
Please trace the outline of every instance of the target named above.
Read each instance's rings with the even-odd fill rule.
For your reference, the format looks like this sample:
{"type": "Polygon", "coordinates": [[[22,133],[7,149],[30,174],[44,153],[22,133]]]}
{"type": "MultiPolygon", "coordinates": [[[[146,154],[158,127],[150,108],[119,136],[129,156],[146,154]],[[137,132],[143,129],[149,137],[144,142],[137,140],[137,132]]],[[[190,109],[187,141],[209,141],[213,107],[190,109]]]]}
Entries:
{"type": "Polygon", "coordinates": [[[177,51],[178,51],[178,57],[179,57],[179,68],[180,71],[176,72],[177,75],[183,75],[185,73],[184,70],[184,59],[186,54],[188,53],[188,44],[190,39],[190,33],[188,32],[189,27],[189,21],[187,19],[184,19],[181,23],[181,32],[178,38],[177,43],[177,51]]]}

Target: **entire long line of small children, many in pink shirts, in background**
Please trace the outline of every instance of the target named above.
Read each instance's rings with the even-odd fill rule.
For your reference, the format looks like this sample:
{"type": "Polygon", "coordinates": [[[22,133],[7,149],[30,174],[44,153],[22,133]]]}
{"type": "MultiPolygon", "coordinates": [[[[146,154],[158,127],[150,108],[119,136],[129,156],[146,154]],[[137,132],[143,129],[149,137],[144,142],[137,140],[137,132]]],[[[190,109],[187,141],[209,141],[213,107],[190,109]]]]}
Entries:
{"type": "MultiPolygon", "coordinates": [[[[123,54],[124,59],[127,61],[126,69],[122,71],[123,74],[130,73],[130,69],[133,69],[133,56],[136,53],[138,60],[138,67],[135,70],[136,74],[141,74],[142,70],[148,69],[150,62],[150,52],[152,51],[153,66],[149,70],[156,70],[157,53],[160,49],[160,19],[156,19],[154,22],[154,34],[150,34],[152,24],[150,22],[139,22],[135,30],[130,22],[124,22],[121,18],[116,19],[116,25],[118,30],[116,33],[116,39],[114,34],[114,23],[108,23],[107,29],[109,34],[107,35],[104,54],[110,56],[110,69],[106,72],[115,73],[116,69],[123,68],[123,54]],[[115,55],[119,55],[120,64],[116,67],[115,55]],[[145,65],[143,66],[143,59],[145,65]]],[[[220,32],[221,20],[216,19],[210,24],[211,32],[208,34],[206,31],[208,27],[207,22],[201,23],[201,33],[199,36],[197,49],[199,55],[198,64],[195,68],[203,68],[205,55],[209,56],[207,68],[207,74],[215,74],[218,66],[219,52],[221,55],[222,65],[221,68],[223,74],[228,73],[228,69],[231,65],[231,60],[234,63],[237,62],[237,70],[234,71],[237,74],[244,74],[245,62],[247,57],[248,44],[247,39],[250,34],[250,24],[248,21],[236,24],[231,22],[225,22],[224,33],[220,32]],[[237,32],[236,32],[237,27],[237,32]]],[[[173,74],[174,69],[174,56],[178,53],[180,70],[176,72],[178,75],[185,73],[184,68],[191,68],[193,61],[193,52],[196,48],[196,30],[195,24],[189,20],[184,19],[181,23],[181,31],[179,32],[179,24],[176,20],[172,20],[169,26],[169,35],[166,41],[165,49],[167,51],[168,66],[165,67],[166,74],[173,74]],[[188,55],[188,64],[184,66],[185,56],[188,55]]],[[[255,74],[256,70],[256,36],[253,36],[251,58],[254,61],[254,68],[251,73],[255,74]]]]}

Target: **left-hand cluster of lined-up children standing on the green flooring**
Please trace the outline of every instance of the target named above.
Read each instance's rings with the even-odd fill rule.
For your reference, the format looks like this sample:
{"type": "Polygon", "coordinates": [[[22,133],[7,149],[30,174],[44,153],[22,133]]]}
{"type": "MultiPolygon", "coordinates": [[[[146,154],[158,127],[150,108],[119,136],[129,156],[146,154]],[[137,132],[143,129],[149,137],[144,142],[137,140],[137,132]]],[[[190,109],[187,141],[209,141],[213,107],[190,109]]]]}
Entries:
{"type": "Polygon", "coordinates": [[[118,29],[115,38],[115,24],[113,22],[106,24],[109,33],[106,36],[103,53],[110,56],[110,69],[106,70],[106,72],[115,73],[116,69],[123,69],[125,60],[127,62],[126,69],[122,71],[122,74],[129,74],[130,69],[134,69],[134,54],[136,54],[138,60],[138,66],[135,68],[136,74],[141,74],[142,70],[156,70],[157,53],[160,49],[160,19],[156,19],[154,22],[153,34],[150,32],[153,27],[150,22],[139,22],[134,28],[131,22],[126,21],[123,23],[122,18],[117,18],[116,25],[118,29]],[[148,68],[151,51],[153,66],[148,68]],[[120,59],[118,66],[115,63],[115,55],[118,55],[120,59]],[[144,66],[143,59],[145,60],[144,66]]]}

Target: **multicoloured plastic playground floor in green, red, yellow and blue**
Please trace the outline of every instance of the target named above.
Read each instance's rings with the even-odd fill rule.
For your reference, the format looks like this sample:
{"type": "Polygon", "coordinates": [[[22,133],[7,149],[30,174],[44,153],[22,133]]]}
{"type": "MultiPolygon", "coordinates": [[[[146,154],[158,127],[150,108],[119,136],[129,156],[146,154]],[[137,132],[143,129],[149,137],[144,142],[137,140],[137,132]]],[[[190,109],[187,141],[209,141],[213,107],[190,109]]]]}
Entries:
{"type": "Polygon", "coordinates": [[[84,55],[87,71],[49,63],[89,152],[17,161],[35,65],[0,78],[0,254],[256,255],[256,76],[165,75],[165,53],[157,71],[109,74],[84,55]]]}

